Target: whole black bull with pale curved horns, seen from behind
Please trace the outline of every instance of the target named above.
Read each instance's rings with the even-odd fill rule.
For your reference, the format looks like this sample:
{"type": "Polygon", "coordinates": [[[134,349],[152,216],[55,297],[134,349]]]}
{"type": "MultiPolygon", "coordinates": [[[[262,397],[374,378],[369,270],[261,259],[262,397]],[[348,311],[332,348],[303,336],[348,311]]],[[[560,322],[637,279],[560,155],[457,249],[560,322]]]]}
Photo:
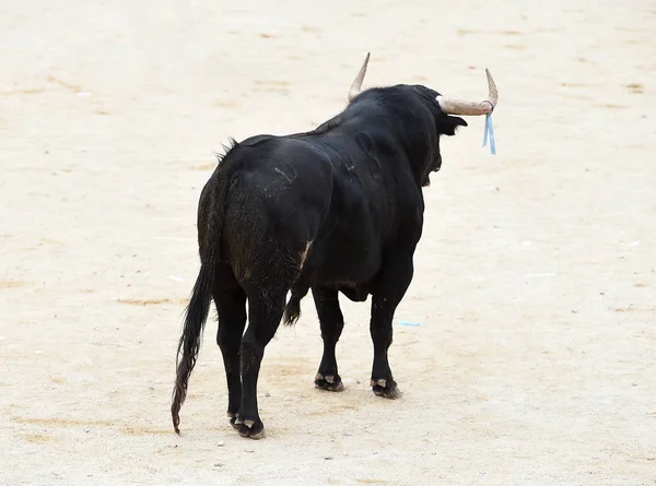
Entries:
{"type": "MultiPolygon", "coordinates": [[[[366,61],[360,84],[365,69],[366,61]]],[[[356,85],[348,107],[313,131],[233,143],[198,206],[200,272],[178,346],[171,407],[176,432],[212,299],[227,415],[242,436],[262,435],[257,380],[265,347],[283,318],[285,323],[298,318],[309,289],[324,340],[315,386],[343,389],[335,356],[344,325],[338,293],[354,301],[372,295],[371,386],[377,395],[399,395],[387,351],[395,310],[414,271],[422,187],[442,165],[441,135],[467,126],[447,112],[481,115],[496,102],[488,99],[482,111],[479,106],[472,112],[440,98],[422,85],[364,92],[356,85]]]]}

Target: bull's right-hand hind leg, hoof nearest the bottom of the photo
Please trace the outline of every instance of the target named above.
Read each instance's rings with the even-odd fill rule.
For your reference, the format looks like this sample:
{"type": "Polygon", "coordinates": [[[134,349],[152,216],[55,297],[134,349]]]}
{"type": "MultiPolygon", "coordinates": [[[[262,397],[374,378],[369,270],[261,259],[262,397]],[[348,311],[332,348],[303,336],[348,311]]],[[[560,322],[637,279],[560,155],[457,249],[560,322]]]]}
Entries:
{"type": "Polygon", "coordinates": [[[265,425],[257,406],[257,380],[265,347],[276,334],[286,292],[269,292],[267,295],[248,295],[248,328],[242,339],[242,404],[236,425],[242,437],[259,439],[265,425]]]}

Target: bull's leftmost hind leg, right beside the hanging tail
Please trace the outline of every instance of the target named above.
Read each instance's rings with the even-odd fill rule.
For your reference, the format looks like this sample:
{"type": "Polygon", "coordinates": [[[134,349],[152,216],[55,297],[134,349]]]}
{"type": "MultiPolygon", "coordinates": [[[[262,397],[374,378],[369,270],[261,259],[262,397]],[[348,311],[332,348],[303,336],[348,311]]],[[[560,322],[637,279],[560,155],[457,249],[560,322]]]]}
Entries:
{"type": "Polygon", "coordinates": [[[213,291],[214,304],[219,315],[216,344],[223,355],[223,366],[227,381],[227,416],[235,425],[242,403],[242,379],[239,376],[239,347],[246,327],[246,294],[234,276],[221,278],[223,285],[213,291]],[[230,283],[232,285],[225,285],[230,283]]]}

